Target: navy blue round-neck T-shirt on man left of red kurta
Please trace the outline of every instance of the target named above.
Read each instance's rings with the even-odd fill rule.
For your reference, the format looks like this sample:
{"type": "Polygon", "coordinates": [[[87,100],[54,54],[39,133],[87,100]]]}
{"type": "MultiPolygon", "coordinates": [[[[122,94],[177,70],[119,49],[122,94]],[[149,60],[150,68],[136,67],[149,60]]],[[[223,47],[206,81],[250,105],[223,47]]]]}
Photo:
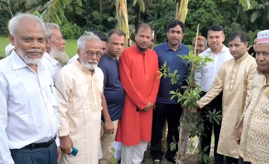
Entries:
{"type": "Polygon", "coordinates": [[[118,59],[113,60],[104,54],[98,63],[98,67],[104,73],[104,95],[111,121],[122,118],[125,92],[120,83],[118,59]]]}

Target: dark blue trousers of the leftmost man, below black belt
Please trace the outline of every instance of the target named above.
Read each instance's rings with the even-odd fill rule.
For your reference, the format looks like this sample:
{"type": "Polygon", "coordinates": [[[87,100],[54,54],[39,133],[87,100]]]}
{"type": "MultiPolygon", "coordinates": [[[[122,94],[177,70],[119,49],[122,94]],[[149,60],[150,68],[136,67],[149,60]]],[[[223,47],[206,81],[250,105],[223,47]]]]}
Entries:
{"type": "Polygon", "coordinates": [[[57,164],[57,146],[48,148],[10,149],[15,164],[57,164]]]}

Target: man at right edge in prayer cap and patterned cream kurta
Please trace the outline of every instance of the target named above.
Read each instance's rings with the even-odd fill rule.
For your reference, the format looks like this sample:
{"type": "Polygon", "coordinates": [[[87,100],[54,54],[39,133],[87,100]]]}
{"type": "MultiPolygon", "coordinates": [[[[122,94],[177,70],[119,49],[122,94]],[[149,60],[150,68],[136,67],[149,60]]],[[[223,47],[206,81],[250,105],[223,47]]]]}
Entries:
{"type": "Polygon", "coordinates": [[[258,33],[255,51],[259,74],[253,79],[252,98],[235,136],[240,144],[239,164],[269,162],[269,30],[258,33]]]}

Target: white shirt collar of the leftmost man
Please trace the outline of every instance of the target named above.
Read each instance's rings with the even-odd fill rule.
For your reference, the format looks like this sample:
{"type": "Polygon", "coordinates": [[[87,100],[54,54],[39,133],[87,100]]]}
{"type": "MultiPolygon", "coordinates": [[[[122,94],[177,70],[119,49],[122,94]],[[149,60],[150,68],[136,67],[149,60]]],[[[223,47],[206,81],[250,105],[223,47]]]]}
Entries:
{"type": "MultiPolygon", "coordinates": [[[[11,52],[10,58],[12,61],[12,70],[21,69],[24,67],[28,67],[30,69],[30,67],[22,60],[22,58],[19,57],[19,55],[16,53],[15,49],[13,49],[13,51],[11,52]]],[[[40,61],[37,64],[37,68],[44,69],[44,66],[42,65],[42,63],[40,61]]]]}

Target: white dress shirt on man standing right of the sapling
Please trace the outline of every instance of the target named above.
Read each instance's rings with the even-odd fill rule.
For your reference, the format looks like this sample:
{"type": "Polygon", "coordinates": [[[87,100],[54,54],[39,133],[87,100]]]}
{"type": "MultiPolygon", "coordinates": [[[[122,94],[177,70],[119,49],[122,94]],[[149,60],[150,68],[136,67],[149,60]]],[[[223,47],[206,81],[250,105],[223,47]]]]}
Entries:
{"type": "Polygon", "coordinates": [[[198,81],[197,85],[200,85],[200,89],[204,92],[208,92],[210,87],[218,74],[221,65],[225,62],[233,58],[230,54],[229,48],[224,46],[221,49],[221,52],[218,54],[214,54],[210,48],[200,53],[199,56],[210,55],[210,58],[213,62],[206,63],[200,72],[196,73],[195,79],[198,81]]]}

